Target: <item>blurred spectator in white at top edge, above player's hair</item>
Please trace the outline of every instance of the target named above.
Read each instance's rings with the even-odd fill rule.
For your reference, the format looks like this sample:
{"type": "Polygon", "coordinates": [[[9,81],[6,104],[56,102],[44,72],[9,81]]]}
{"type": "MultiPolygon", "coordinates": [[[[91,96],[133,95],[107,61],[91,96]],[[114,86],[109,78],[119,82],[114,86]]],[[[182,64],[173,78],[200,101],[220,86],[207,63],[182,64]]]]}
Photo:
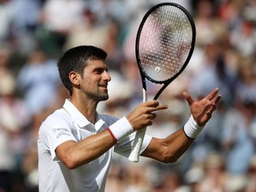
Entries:
{"type": "Polygon", "coordinates": [[[60,53],[69,33],[84,24],[83,0],[48,0],[40,19],[40,44],[44,51],[53,55],[60,53]]]}

